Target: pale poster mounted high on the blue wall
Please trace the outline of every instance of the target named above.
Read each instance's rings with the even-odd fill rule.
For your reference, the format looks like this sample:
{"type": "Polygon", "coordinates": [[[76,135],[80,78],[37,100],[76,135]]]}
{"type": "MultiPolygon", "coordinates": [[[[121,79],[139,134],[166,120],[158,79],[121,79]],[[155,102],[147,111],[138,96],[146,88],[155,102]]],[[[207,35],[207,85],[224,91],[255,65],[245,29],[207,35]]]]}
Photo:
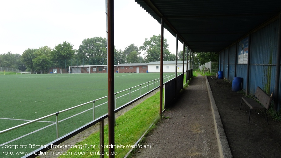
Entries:
{"type": "Polygon", "coordinates": [[[238,64],[248,63],[248,46],[249,46],[249,37],[244,38],[242,41],[239,42],[238,64]]]}

